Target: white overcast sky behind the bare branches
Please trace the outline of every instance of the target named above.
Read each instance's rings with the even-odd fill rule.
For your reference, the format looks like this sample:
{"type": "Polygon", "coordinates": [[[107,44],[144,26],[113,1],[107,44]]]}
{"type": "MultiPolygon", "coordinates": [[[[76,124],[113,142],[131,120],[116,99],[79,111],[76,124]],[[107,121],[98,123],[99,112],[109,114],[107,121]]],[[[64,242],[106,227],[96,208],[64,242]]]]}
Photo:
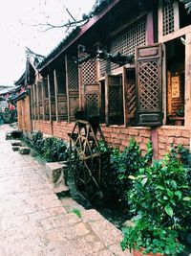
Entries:
{"type": "Polygon", "coordinates": [[[61,24],[92,10],[96,0],[0,0],[0,85],[11,85],[25,70],[26,46],[47,56],[65,37],[66,29],[40,31],[33,24],[61,24]]]}

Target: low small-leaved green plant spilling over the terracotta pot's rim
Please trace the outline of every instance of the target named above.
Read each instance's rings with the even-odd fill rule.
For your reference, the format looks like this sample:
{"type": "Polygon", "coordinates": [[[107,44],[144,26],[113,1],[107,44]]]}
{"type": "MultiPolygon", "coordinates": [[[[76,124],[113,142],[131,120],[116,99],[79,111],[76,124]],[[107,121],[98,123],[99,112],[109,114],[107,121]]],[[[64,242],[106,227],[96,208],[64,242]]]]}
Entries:
{"type": "Polygon", "coordinates": [[[178,233],[175,230],[151,225],[149,221],[141,219],[135,226],[129,226],[123,231],[124,239],[120,243],[122,250],[126,247],[135,248],[142,254],[149,252],[164,255],[177,255],[184,246],[178,241],[178,233]]]}

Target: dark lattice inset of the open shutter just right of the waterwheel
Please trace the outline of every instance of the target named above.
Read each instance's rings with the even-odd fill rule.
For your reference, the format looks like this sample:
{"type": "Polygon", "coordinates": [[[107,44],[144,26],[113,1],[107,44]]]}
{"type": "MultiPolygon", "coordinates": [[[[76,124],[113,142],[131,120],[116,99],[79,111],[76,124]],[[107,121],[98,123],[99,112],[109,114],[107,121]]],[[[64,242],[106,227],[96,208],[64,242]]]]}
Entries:
{"type": "Polygon", "coordinates": [[[121,99],[119,98],[118,87],[113,87],[109,89],[109,113],[116,114],[118,112],[119,103],[121,99]]]}

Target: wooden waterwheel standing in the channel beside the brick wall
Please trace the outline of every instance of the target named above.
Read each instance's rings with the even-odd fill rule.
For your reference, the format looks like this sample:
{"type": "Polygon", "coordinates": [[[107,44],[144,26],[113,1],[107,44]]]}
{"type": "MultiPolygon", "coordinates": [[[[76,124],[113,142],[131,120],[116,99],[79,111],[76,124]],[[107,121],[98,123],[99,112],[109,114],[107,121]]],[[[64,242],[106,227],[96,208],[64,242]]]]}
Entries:
{"type": "Polygon", "coordinates": [[[70,169],[76,189],[92,201],[103,198],[110,182],[109,150],[99,118],[76,120],[70,136],[70,169]]]}

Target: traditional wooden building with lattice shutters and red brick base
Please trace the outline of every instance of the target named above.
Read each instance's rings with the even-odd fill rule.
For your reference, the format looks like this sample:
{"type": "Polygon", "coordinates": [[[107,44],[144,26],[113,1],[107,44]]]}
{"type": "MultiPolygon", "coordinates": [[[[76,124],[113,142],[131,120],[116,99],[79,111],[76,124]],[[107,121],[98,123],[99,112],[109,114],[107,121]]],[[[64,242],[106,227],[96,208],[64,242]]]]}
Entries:
{"type": "Polygon", "coordinates": [[[190,148],[190,1],[97,2],[33,74],[32,130],[68,140],[83,110],[121,150],[133,136],[143,151],[152,140],[156,158],[190,148]]]}

